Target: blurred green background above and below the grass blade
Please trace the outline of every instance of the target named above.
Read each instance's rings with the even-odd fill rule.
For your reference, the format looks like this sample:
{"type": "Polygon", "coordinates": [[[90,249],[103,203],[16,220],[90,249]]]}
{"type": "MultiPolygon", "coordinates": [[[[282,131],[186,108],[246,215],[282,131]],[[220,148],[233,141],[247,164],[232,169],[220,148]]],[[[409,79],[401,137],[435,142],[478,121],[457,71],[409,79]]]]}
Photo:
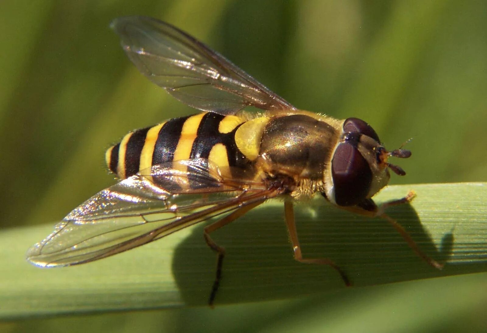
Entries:
{"type": "MultiPolygon", "coordinates": [[[[391,183],[487,181],[486,1],[0,2],[0,225],[59,220],[113,183],[104,151],[194,110],[140,75],[108,28],[166,20],[295,106],[412,137],[391,183]]],[[[480,332],[486,274],[304,299],[26,319],[3,332],[480,332]],[[479,293],[479,290],[481,291],[479,293]]]]}

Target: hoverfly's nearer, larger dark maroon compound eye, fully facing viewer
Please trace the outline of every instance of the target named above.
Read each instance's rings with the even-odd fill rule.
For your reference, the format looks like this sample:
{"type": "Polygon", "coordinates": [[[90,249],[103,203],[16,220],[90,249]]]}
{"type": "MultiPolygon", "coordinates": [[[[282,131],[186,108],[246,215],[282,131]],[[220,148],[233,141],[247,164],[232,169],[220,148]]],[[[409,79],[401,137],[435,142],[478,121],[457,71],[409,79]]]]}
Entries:
{"type": "Polygon", "coordinates": [[[350,142],[338,144],[332,159],[335,202],[338,206],[353,206],[366,198],[372,183],[369,163],[350,142]]]}

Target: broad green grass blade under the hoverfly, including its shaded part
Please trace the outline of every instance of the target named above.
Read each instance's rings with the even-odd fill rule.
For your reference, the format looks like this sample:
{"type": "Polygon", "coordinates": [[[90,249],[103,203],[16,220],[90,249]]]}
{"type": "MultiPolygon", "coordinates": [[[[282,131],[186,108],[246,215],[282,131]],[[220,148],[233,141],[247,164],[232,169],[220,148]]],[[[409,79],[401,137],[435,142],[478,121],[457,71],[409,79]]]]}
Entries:
{"type": "MultiPolygon", "coordinates": [[[[354,285],[487,272],[487,183],[390,186],[385,201],[414,190],[411,205],[392,207],[419,247],[446,266],[428,266],[383,219],[370,219],[323,204],[317,197],[297,209],[303,253],[332,258],[354,285]]],[[[216,304],[290,298],[344,288],[329,267],[293,260],[282,219],[271,201],[215,232],[226,249],[216,304]]],[[[203,225],[121,255],[68,268],[39,269],[24,253],[53,225],[0,234],[0,318],[206,305],[215,255],[203,225]]]]}

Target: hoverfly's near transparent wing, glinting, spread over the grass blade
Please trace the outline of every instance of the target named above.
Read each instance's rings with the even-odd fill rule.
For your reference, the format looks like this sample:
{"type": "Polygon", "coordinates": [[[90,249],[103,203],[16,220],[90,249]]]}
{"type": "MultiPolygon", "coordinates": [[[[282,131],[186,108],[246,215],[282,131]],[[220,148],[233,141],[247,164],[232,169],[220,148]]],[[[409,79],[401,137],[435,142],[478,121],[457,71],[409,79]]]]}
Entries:
{"type": "Polygon", "coordinates": [[[27,260],[41,267],[97,260],[279,194],[202,158],[156,165],[75,208],[27,260]]]}

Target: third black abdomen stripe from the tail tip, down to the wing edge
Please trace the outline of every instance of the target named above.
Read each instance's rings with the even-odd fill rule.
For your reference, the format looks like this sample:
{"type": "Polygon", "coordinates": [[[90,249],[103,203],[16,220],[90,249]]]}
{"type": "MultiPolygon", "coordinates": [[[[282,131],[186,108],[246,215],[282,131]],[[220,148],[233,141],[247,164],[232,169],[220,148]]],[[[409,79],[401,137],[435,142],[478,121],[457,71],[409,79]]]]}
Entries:
{"type": "Polygon", "coordinates": [[[154,145],[152,165],[172,161],[187,118],[170,119],[161,127],[154,145]]]}

